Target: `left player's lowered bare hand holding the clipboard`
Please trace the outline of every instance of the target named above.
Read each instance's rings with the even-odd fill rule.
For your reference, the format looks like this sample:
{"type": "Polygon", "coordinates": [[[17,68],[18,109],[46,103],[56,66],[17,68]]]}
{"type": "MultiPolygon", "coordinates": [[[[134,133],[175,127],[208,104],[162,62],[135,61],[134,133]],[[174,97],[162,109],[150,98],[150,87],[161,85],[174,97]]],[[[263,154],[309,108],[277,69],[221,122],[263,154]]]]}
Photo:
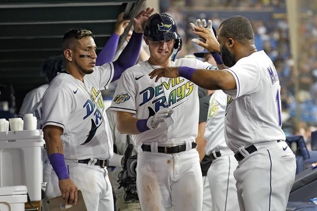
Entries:
{"type": "Polygon", "coordinates": [[[65,203],[76,205],[78,202],[78,188],[71,179],[59,180],[59,190],[65,203]]]}

